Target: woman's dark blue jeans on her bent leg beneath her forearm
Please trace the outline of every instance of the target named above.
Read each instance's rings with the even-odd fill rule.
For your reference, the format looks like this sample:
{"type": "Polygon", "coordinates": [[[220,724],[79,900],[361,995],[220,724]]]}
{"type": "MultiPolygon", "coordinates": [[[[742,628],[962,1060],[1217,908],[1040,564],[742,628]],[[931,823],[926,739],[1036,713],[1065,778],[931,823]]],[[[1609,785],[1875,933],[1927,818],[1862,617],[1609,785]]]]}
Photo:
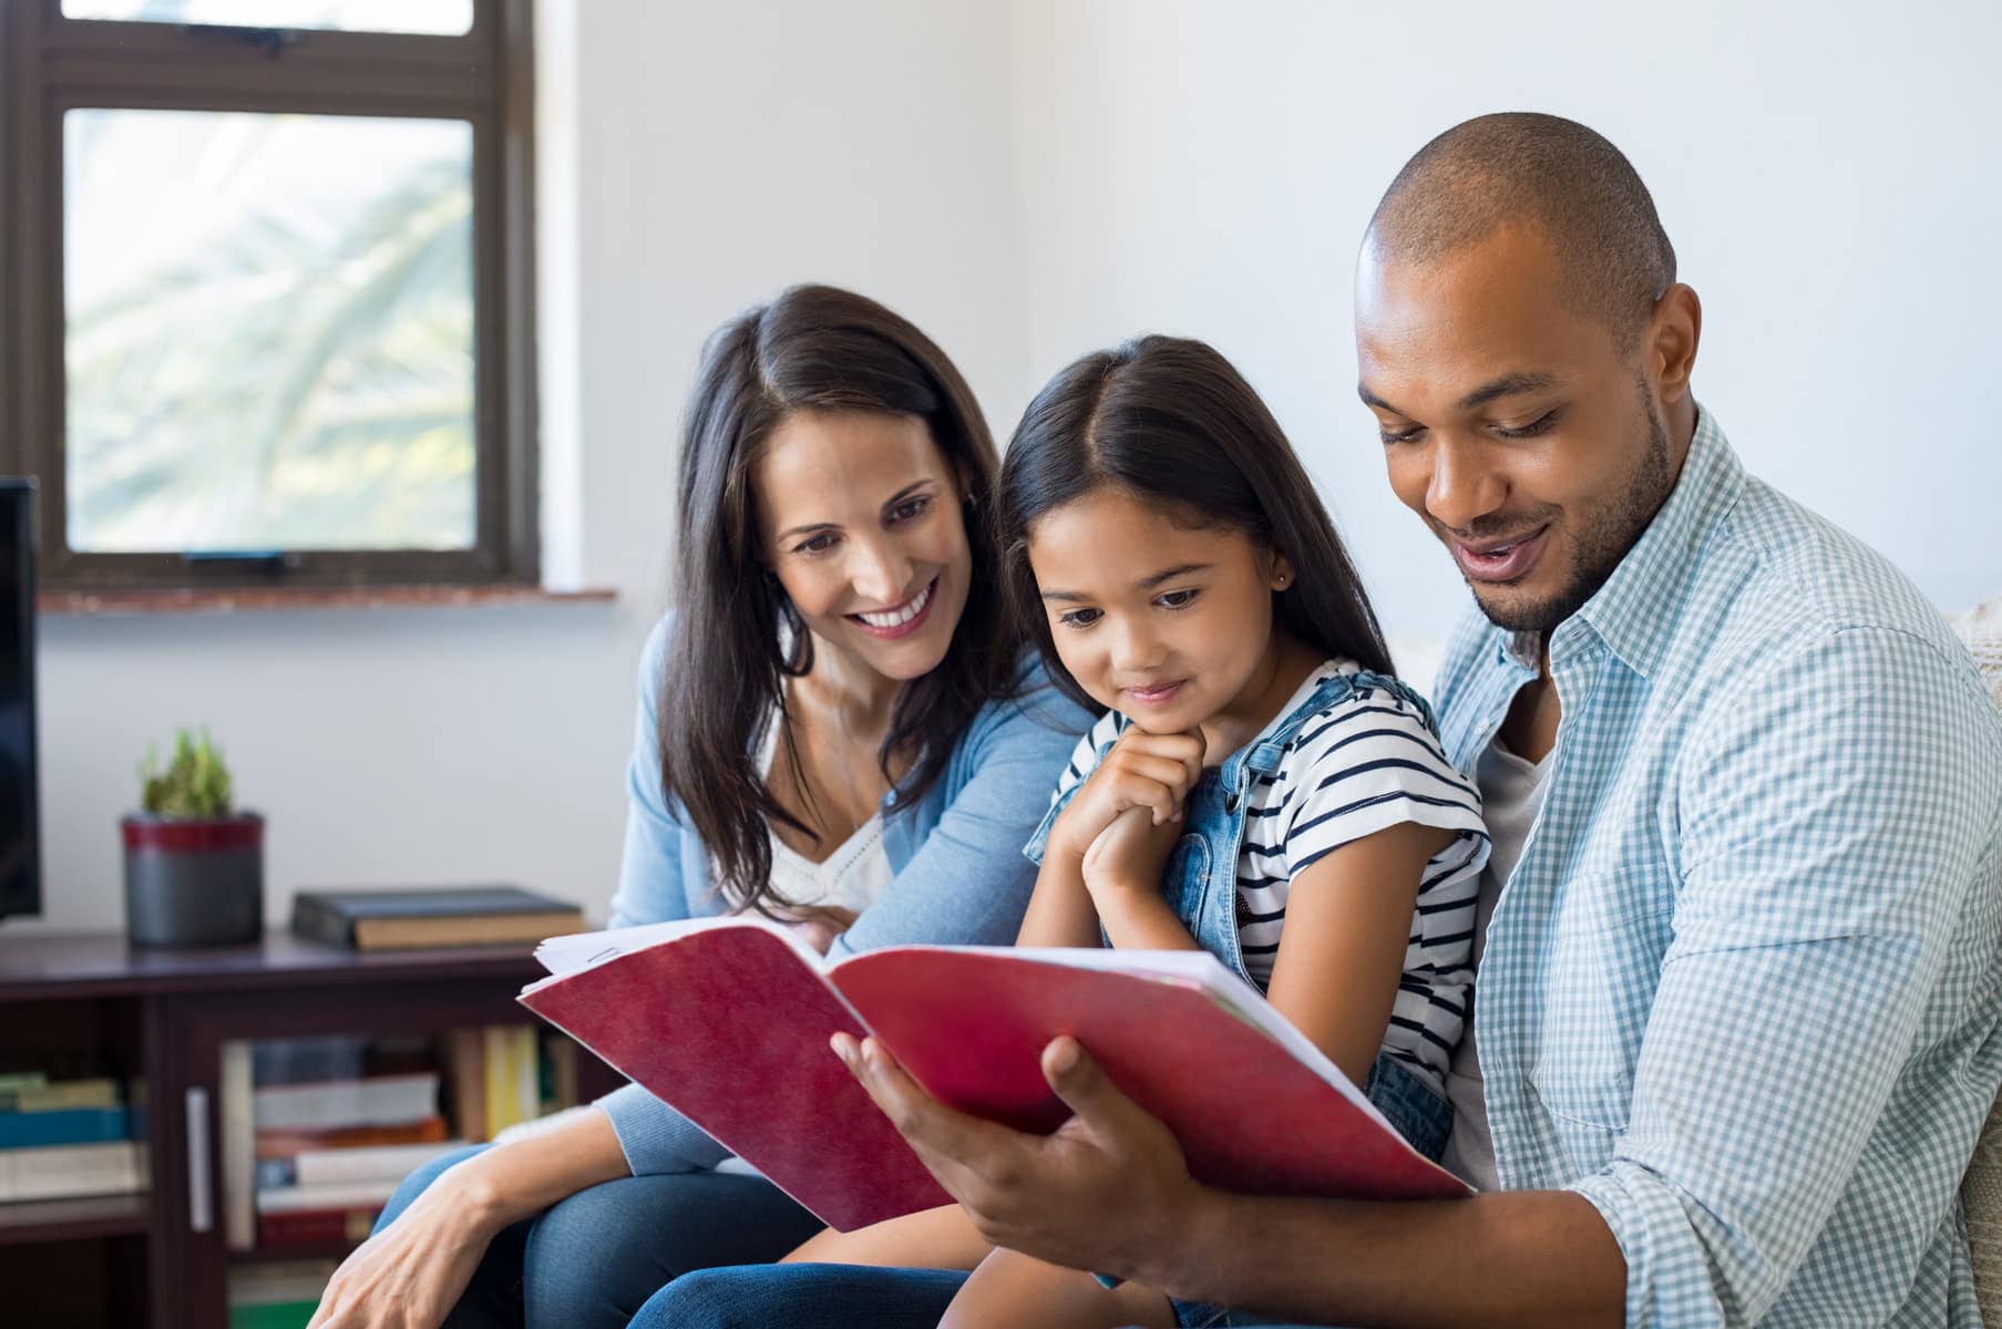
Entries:
{"type": "MultiPolygon", "coordinates": [[[[376,1229],[480,1149],[404,1177],[376,1229]]],[[[444,1329],[625,1329],[647,1297],[683,1273],[779,1259],[817,1231],[821,1221],[763,1177],[621,1177],[494,1237],[444,1329]]]]}

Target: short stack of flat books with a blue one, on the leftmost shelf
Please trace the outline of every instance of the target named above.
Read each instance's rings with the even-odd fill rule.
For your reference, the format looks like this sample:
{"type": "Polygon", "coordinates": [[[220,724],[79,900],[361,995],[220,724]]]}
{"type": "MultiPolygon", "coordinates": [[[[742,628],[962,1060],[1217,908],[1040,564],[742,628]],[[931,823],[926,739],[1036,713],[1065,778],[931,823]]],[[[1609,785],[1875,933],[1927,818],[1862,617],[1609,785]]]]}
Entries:
{"type": "Polygon", "coordinates": [[[144,1191],[142,1127],[114,1079],[0,1075],[0,1203],[144,1191]]]}

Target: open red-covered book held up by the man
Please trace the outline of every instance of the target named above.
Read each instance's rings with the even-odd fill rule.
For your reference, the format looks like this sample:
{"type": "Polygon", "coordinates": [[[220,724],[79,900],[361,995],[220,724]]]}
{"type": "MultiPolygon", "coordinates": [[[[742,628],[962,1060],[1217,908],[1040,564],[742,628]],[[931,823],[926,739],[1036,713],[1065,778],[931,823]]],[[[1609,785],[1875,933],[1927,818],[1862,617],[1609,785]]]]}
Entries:
{"type": "Polygon", "coordinates": [[[1073,1035],[1231,1191],[1467,1195],[1327,1057],[1203,951],[889,947],[827,963],[787,929],[703,919],[557,937],[523,1005],[671,1103],[829,1227],[949,1203],[829,1051],[873,1033],[939,1101],[1025,1131],[1069,1109],[1041,1051],[1073,1035]]]}

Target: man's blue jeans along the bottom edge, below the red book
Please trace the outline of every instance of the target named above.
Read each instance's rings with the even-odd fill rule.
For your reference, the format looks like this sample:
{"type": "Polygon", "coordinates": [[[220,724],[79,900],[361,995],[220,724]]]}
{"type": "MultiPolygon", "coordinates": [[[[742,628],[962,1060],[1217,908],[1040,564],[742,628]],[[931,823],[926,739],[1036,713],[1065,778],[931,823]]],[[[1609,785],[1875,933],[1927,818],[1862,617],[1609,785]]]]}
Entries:
{"type": "MultiPolygon", "coordinates": [[[[967,1281],[949,1269],[865,1269],[861,1265],[755,1265],[703,1269],[675,1279],[633,1317],[633,1329],[937,1329],[967,1281]]],[[[1305,1329],[1243,1311],[1211,1311],[1191,1329],[1305,1329]],[[1221,1315],[1213,1319],[1209,1315],[1221,1315]]],[[[1029,1329],[1029,1327],[1025,1327],[1029,1329]]]]}

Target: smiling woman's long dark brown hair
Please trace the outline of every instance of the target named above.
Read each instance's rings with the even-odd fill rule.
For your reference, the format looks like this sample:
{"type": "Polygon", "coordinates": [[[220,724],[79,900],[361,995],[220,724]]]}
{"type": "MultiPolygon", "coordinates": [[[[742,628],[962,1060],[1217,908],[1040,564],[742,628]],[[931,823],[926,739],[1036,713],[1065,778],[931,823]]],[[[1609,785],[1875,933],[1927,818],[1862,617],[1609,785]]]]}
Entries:
{"type": "Polygon", "coordinates": [[[785,679],[813,669],[813,636],[767,572],[751,492],[763,442],[795,410],[917,416],[973,498],[973,576],[953,644],[901,689],[877,753],[885,779],[893,757],[911,759],[893,781],[899,807],[931,789],[981,705],[1013,689],[1023,640],[999,596],[993,436],[945,352],[875,300],[833,286],[793,286],[719,328],[681,444],[683,556],[659,689],[661,785],[709,851],[725,901],[759,913],[793,903],[771,887],[771,823],[813,833],[777,805],[757,763],[785,679]]]}

